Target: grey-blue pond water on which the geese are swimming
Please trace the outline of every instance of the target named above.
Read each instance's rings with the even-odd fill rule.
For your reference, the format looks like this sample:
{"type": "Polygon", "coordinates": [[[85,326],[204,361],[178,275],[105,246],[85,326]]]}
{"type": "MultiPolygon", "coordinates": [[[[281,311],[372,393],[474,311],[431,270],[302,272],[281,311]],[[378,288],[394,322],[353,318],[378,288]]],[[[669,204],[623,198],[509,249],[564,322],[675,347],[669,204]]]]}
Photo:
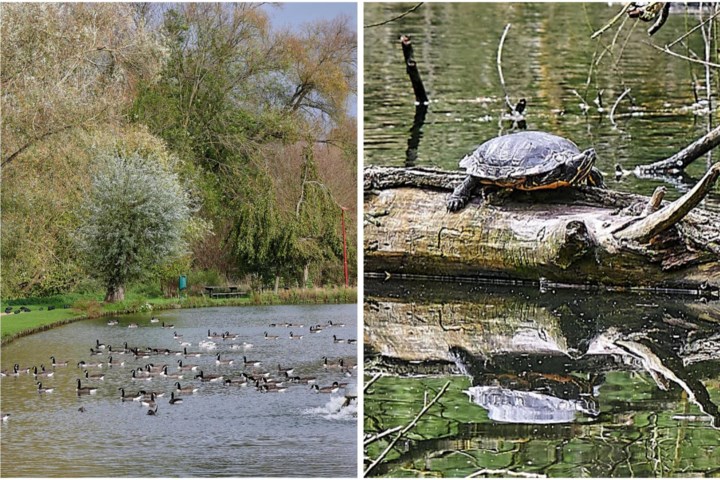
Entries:
{"type": "Polygon", "coordinates": [[[2,412],[10,413],[2,422],[2,476],[354,477],[357,405],[346,396],[356,395],[357,347],[333,336],[355,338],[356,316],[355,305],[204,308],[161,312],[158,323],[138,314],[120,317],[118,325],[108,325],[107,318],[85,320],[20,338],[3,347],[3,369],[44,364],[54,374],[41,377],[42,386],[54,391],[39,394],[32,373],[2,378],[2,412]],[[132,323],[137,328],[128,328],[132,323]],[[316,325],[322,330],[311,333],[316,325]],[[208,339],[208,329],[237,337],[208,339]],[[104,353],[90,355],[98,340],[106,345],[104,353]],[[121,354],[125,344],[139,355],[121,354]],[[175,354],[183,348],[202,356],[175,354]],[[143,355],[147,349],[150,354],[143,355]],[[233,364],[216,364],[217,354],[233,364]],[[51,355],[68,366],[53,368],[51,355]],[[262,364],[245,366],[244,358],[262,364]],[[349,369],[339,367],[341,359],[349,369]],[[105,363],[87,368],[90,375],[104,374],[103,380],[82,380],[83,387],[97,388],[95,394],[76,392],[84,375],[77,366],[81,360],[105,363]],[[222,375],[233,383],[195,379],[198,371],[181,372],[182,379],[132,379],[131,371],[147,364],[167,364],[169,374],[176,374],[178,360],[197,365],[206,378],[222,375]],[[272,382],[284,376],[279,368],[294,368],[291,376],[301,381],[286,382],[283,392],[272,383],[261,392],[252,381],[235,382],[243,372],[272,382]],[[310,377],[319,387],[346,385],[316,392],[310,377]],[[183,402],[171,405],[175,382],[198,391],[180,394],[183,402]],[[128,397],[139,390],[165,395],[156,398],[153,416],[140,402],[121,401],[119,388],[128,397]]]}

